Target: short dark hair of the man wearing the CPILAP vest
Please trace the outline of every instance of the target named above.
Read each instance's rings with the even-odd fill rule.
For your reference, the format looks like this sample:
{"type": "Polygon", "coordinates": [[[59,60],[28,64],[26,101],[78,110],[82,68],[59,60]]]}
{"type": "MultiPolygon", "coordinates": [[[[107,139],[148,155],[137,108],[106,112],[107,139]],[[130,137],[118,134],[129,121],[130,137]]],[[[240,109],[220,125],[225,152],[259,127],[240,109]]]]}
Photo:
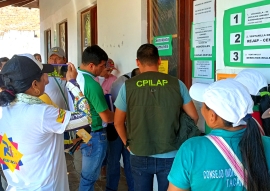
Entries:
{"type": "Polygon", "coordinates": [[[159,54],[158,49],[153,44],[143,44],[137,50],[137,59],[141,64],[157,65],[159,54]]]}

